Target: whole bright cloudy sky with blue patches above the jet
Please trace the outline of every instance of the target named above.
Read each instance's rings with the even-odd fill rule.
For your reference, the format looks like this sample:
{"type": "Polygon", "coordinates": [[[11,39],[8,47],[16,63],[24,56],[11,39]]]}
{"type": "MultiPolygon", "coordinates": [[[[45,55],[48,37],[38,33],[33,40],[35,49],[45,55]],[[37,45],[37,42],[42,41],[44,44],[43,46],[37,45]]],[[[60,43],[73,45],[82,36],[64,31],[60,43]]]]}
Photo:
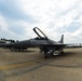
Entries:
{"type": "Polygon", "coordinates": [[[82,0],[0,0],[0,38],[26,40],[39,27],[53,40],[82,43],[82,0]]]}

